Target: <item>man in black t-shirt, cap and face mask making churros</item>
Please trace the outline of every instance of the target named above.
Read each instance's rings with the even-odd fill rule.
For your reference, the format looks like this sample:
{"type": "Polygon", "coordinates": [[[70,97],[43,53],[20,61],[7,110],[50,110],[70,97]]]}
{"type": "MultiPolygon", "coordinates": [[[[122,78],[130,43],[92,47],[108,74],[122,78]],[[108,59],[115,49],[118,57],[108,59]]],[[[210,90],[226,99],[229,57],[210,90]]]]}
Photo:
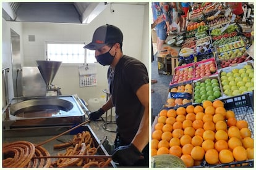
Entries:
{"type": "Polygon", "coordinates": [[[113,25],[95,30],[85,48],[95,50],[96,60],[109,65],[111,96],[89,119],[100,118],[112,107],[116,110],[117,135],[113,161],[125,167],[149,167],[149,80],[145,65],[122,53],[122,31],[113,25]]]}

